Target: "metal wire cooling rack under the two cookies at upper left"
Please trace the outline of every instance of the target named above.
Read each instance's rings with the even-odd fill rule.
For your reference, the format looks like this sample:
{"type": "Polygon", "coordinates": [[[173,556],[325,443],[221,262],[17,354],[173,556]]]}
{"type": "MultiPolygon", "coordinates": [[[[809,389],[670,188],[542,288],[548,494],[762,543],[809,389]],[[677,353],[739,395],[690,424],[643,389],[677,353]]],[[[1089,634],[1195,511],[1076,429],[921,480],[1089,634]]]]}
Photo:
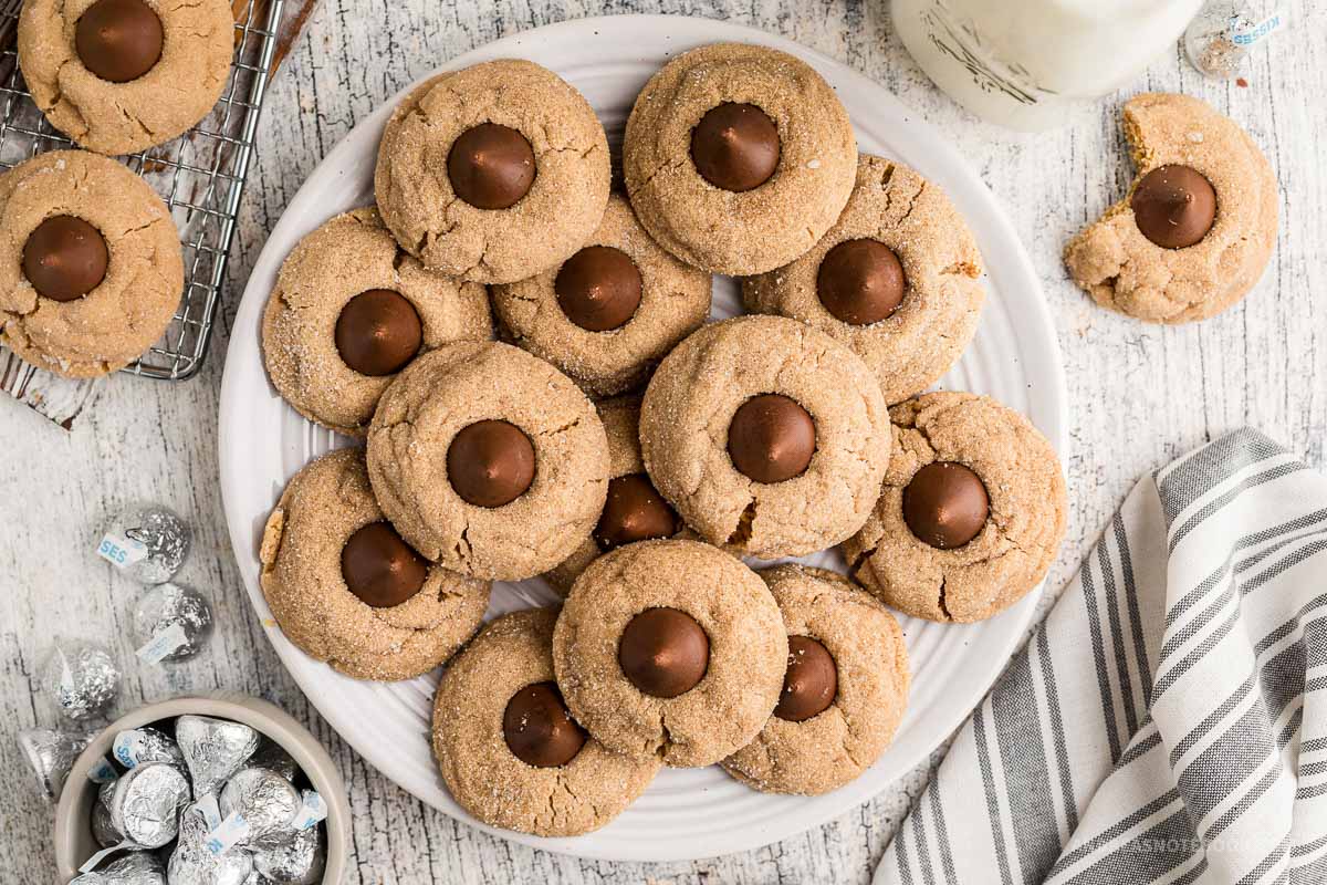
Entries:
{"type": "MultiPolygon", "coordinates": [[[[119,158],[166,204],[184,249],[184,291],[166,334],[125,372],[183,381],[203,365],[235,236],[235,215],[272,69],[284,0],[235,0],[235,58],[220,101],[173,142],[119,158]]],[[[19,73],[15,4],[0,11],[0,170],[42,151],[77,147],[37,110],[19,73]]]]}

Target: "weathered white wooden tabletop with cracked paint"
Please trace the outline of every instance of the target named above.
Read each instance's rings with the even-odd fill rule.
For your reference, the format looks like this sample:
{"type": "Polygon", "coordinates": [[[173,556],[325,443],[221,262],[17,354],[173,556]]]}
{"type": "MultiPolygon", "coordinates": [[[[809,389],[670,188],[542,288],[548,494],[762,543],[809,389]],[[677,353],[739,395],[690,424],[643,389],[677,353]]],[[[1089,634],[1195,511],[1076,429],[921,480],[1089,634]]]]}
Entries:
{"type": "MultiPolygon", "coordinates": [[[[50,811],[28,783],[13,732],[50,724],[37,662],[56,634],[107,642],[126,665],[119,710],[227,689],[269,698],[309,724],[350,787],[349,882],[865,882],[926,779],[926,767],[841,819],[760,851],[694,864],[583,862],[479,833],[423,807],[360,760],[321,720],[268,646],[240,585],[216,475],[216,402],[227,332],[267,232],[318,159],[411,80],[476,45],[561,19],[669,12],[782,33],[867,73],[940,126],[1007,207],[1040,271],[1068,375],[1071,516],[1051,573],[1059,589],[1133,480],[1242,425],[1324,462],[1327,431],[1327,15],[1291,4],[1296,28],[1246,70],[1247,88],[1202,80],[1178,52],[1127,92],[1201,96],[1243,122],[1282,188],[1282,228],[1262,287],[1201,325],[1144,326],[1093,308],[1066,279],[1062,244],[1127,186],[1120,96],[1027,137],[979,123],[940,94],[892,33],[884,0],[324,0],[277,76],[244,198],[220,329],[200,377],[105,381],[65,433],[0,398],[0,881],[53,877],[50,811]],[[1318,84],[1316,86],[1314,84],[1318,84]],[[207,592],[218,630],[199,658],[131,666],[135,588],[93,556],[126,502],[170,504],[195,525],[182,580],[207,592]],[[8,780],[8,779],[17,780],[8,780]]],[[[1312,4],[1319,8],[1322,4],[1312,4]]]]}

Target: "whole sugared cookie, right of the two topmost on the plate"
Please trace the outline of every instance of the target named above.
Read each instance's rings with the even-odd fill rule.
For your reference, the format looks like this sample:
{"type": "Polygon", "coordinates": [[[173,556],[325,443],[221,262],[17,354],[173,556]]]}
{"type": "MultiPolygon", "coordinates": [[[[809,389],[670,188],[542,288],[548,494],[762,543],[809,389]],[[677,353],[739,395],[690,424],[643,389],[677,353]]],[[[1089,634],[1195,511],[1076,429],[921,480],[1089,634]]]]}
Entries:
{"type": "Polygon", "coordinates": [[[766,46],[683,53],[641,90],[622,171],[645,228],[687,264],[751,275],[824,235],[852,191],[857,142],[839,98],[766,46]]]}

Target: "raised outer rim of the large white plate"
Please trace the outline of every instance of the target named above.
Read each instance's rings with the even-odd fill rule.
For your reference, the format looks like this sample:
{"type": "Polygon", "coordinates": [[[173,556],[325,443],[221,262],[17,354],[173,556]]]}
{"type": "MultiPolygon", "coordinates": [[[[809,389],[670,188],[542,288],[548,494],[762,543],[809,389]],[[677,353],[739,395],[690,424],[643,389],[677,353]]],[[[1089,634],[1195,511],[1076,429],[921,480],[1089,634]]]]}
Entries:
{"type": "MultiPolygon", "coordinates": [[[[541,25],[539,28],[532,28],[528,31],[512,33],[496,41],[475,46],[462,54],[458,54],[447,60],[445,64],[425,73],[423,76],[418,77],[417,80],[406,85],[403,89],[398,90],[395,94],[385,100],[372,113],[369,113],[358,123],[356,123],[345,135],[342,135],[341,139],[332,147],[332,150],[329,150],[322,157],[322,159],[318,161],[318,163],[313,167],[309,175],[296,190],[295,195],[291,198],[287,207],[283,210],[281,216],[272,227],[272,231],[268,232],[263,248],[260,249],[257,257],[255,259],[253,267],[249,271],[249,276],[245,280],[244,292],[242,295],[239,306],[236,309],[235,320],[231,328],[231,340],[227,345],[226,365],[222,375],[222,389],[218,406],[218,460],[220,467],[220,491],[222,491],[223,511],[227,523],[227,533],[231,539],[231,547],[236,556],[236,564],[239,567],[240,577],[244,582],[249,604],[253,606],[255,614],[259,617],[260,621],[264,617],[264,610],[263,610],[264,602],[261,597],[261,589],[256,586],[256,580],[255,581],[249,580],[245,568],[240,565],[240,563],[243,563],[245,559],[256,559],[256,549],[253,547],[252,537],[247,536],[247,532],[251,531],[251,527],[245,521],[247,517],[236,512],[239,510],[239,506],[234,500],[232,494],[228,492],[228,488],[231,488],[234,471],[239,467],[239,464],[232,463],[232,460],[228,459],[227,456],[227,452],[234,450],[231,441],[235,435],[235,431],[238,430],[236,422],[231,417],[235,410],[234,406],[234,399],[236,395],[235,386],[236,383],[239,383],[236,381],[238,370],[232,370],[232,357],[242,358],[244,356],[243,354],[244,350],[255,346],[253,342],[245,341],[247,333],[242,332],[242,329],[245,329],[248,324],[242,322],[240,317],[242,314],[247,313],[245,309],[261,312],[261,306],[257,303],[261,301],[263,304],[265,304],[268,292],[260,291],[261,287],[257,277],[265,277],[268,275],[267,272],[259,273],[259,271],[263,271],[264,265],[268,263],[275,263],[276,268],[280,267],[280,261],[284,259],[284,256],[269,256],[272,240],[275,239],[273,234],[276,234],[283,224],[289,224],[292,227],[297,226],[297,222],[288,219],[295,219],[295,215],[292,215],[292,210],[295,210],[296,214],[303,214],[300,212],[300,210],[305,208],[304,203],[308,203],[313,199],[313,188],[311,188],[311,182],[313,182],[316,178],[320,178],[320,172],[322,172],[325,169],[330,169],[334,165],[340,165],[341,157],[344,154],[358,151],[360,142],[368,137],[365,135],[365,133],[370,130],[374,131],[374,135],[381,133],[381,129],[386,123],[386,119],[390,115],[391,109],[401,101],[401,98],[403,98],[405,94],[409,93],[411,89],[414,89],[417,85],[419,85],[425,80],[429,80],[430,77],[437,76],[438,73],[455,70],[458,68],[478,64],[479,61],[484,61],[492,57],[500,57],[500,56],[519,57],[522,54],[522,45],[531,40],[569,38],[575,36],[577,32],[618,29],[618,28],[625,28],[630,31],[638,28],[657,27],[664,29],[665,32],[669,31],[677,32],[678,29],[685,31],[686,28],[694,28],[697,25],[703,25],[705,33],[683,34],[682,38],[679,38],[679,49],[683,45],[686,48],[690,48],[693,45],[691,44],[693,37],[697,37],[695,45],[699,45],[702,42],[721,42],[721,41],[751,42],[751,44],[772,46],[775,49],[782,49],[784,52],[795,54],[803,61],[812,64],[821,72],[825,69],[832,70],[836,86],[851,85],[856,90],[867,92],[868,94],[872,94],[874,98],[893,105],[894,109],[898,111],[898,114],[906,121],[909,127],[914,130],[916,135],[929,142],[928,150],[932,150],[940,155],[940,158],[937,159],[937,165],[947,166],[954,175],[959,175],[967,179],[966,191],[967,195],[970,195],[971,202],[974,202],[975,204],[966,207],[966,210],[962,212],[965,220],[969,220],[969,224],[971,224],[970,215],[971,214],[981,215],[985,224],[990,226],[990,230],[987,231],[987,245],[999,248],[1003,253],[1003,261],[1006,264],[1016,265],[1018,275],[1034,283],[1035,291],[1030,293],[1030,297],[1036,303],[1036,309],[1031,314],[1024,313],[1020,317],[1020,322],[1028,326],[1035,325],[1035,328],[1030,329],[1030,337],[1039,338],[1047,342],[1048,345],[1044,349],[1044,353],[1040,354],[1043,358],[1039,360],[1036,366],[1038,370],[1047,373],[1047,375],[1040,379],[1040,387],[1042,387],[1042,397],[1047,401],[1046,411],[1048,413],[1038,423],[1038,427],[1047,437],[1047,439],[1050,439],[1052,447],[1060,455],[1060,462],[1063,466],[1064,452],[1067,448],[1067,425],[1068,425],[1067,386],[1064,378],[1063,358],[1059,346],[1059,337],[1056,334],[1050,308],[1046,304],[1044,293],[1040,285],[1040,277],[1036,273],[1031,257],[1027,253],[1027,249],[1023,245],[1022,240],[1019,239],[1011,219],[1005,212],[1003,207],[998,203],[994,194],[981,179],[981,176],[970,167],[970,165],[962,157],[962,154],[959,154],[959,151],[934,126],[917,117],[912,111],[912,109],[908,107],[902,101],[900,101],[893,93],[890,93],[884,86],[876,84],[865,74],[857,72],[845,62],[840,62],[836,58],[832,58],[819,50],[803,46],[787,37],[783,37],[782,34],[774,34],[748,25],[734,24],[730,21],[723,21],[717,19],[707,19],[703,16],[628,13],[628,15],[591,16],[584,19],[569,19],[564,21],[541,25]]],[[[673,36],[674,36],[673,33],[666,33],[666,38],[671,38],[673,36]]],[[[954,195],[951,192],[951,196],[955,199],[955,203],[969,202],[967,195],[963,195],[963,198],[959,199],[958,195],[954,195]]],[[[256,353],[259,356],[259,360],[261,361],[260,344],[256,345],[256,353]]],[[[1006,661],[1006,665],[1007,665],[1007,658],[1011,657],[1013,653],[1023,644],[1027,630],[1031,626],[1031,621],[1035,616],[1036,600],[1040,597],[1042,593],[1043,593],[1043,585],[1039,585],[1036,589],[1028,593],[1022,601],[1019,601],[1011,610],[1003,613],[1002,616],[997,616],[997,617],[1011,618],[1011,621],[1014,621],[1014,624],[1011,624],[1007,632],[1007,638],[1003,642],[1003,646],[1006,647],[1002,651],[1001,659],[1006,661]]],[[[820,827],[824,823],[832,820],[833,817],[845,813],[851,808],[860,807],[860,804],[869,801],[872,797],[878,795],[878,792],[881,792],[885,787],[888,787],[889,783],[894,783],[894,782],[885,782],[880,785],[878,789],[871,792],[867,796],[861,796],[853,800],[851,804],[847,804],[837,809],[823,811],[820,813],[812,813],[812,815],[796,815],[796,816],[790,815],[788,817],[795,817],[795,820],[790,825],[770,828],[770,831],[767,832],[760,832],[758,839],[755,840],[748,839],[740,844],[735,844],[731,849],[723,849],[721,852],[702,851],[697,853],[695,851],[689,851],[686,845],[671,845],[669,849],[661,849],[658,852],[652,853],[649,857],[641,857],[638,854],[624,854],[620,852],[614,852],[612,849],[612,845],[598,847],[594,844],[585,843],[583,837],[549,839],[549,837],[531,836],[527,833],[519,833],[515,831],[499,829],[478,821],[468,812],[460,808],[455,803],[455,800],[451,801],[451,807],[441,807],[435,804],[431,799],[421,795],[414,788],[406,785],[406,783],[398,780],[391,774],[389,774],[389,771],[377,760],[376,758],[377,754],[370,755],[372,751],[370,752],[365,751],[364,742],[348,736],[348,731],[352,731],[350,723],[348,722],[349,714],[340,711],[338,705],[330,702],[320,703],[320,701],[317,699],[318,693],[312,690],[313,686],[307,685],[309,677],[301,675],[289,666],[289,663],[287,662],[287,657],[289,654],[303,654],[303,651],[296,649],[288,641],[279,641],[279,636],[273,636],[272,630],[264,629],[263,633],[267,636],[268,641],[272,642],[273,649],[277,653],[277,657],[281,659],[281,665],[285,667],[287,673],[295,679],[296,685],[299,685],[300,691],[305,695],[308,702],[313,705],[313,707],[328,722],[328,724],[338,734],[338,736],[341,736],[342,740],[345,740],[356,751],[356,754],[361,759],[364,759],[365,763],[373,766],[374,770],[377,770],[385,778],[391,780],[401,789],[415,796],[419,801],[430,807],[438,808],[450,817],[464,821],[499,839],[512,840],[524,845],[529,845],[532,848],[539,848],[559,854],[585,857],[592,860],[667,862],[667,861],[702,860],[706,857],[717,857],[740,851],[752,851],[772,844],[775,841],[779,841],[782,839],[788,839],[800,835],[803,832],[807,832],[809,829],[813,829],[816,827],[820,827]]],[[[966,710],[966,713],[963,713],[957,722],[954,722],[951,726],[949,726],[941,734],[938,734],[938,736],[934,736],[933,739],[928,738],[925,742],[922,742],[922,743],[929,743],[930,747],[925,751],[918,752],[917,754],[918,758],[910,760],[909,767],[916,767],[916,764],[918,764],[928,755],[934,752],[936,747],[943,743],[943,740],[950,734],[953,734],[953,731],[955,731],[963,722],[966,722],[966,719],[971,715],[971,710],[982,701],[982,698],[986,697],[986,694],[990,691],[991,685],[994,685],[995,679],[999,678],[999,674],[1003,673],[1003,670],[1005,666],[1001,666],[999,669],[993,670],[989,678],[977,681],[977,686],[974,687],[974,690],[969,693],[973,697],[963,698],[963,703],[959,705],[962,706],[962,709],[966,710]]],[[[934,734],[936,728],[932,728],[930,731],[934,734]]],[[[664,843],[661,843],[661,845],[662,844],[664,843]]]]}

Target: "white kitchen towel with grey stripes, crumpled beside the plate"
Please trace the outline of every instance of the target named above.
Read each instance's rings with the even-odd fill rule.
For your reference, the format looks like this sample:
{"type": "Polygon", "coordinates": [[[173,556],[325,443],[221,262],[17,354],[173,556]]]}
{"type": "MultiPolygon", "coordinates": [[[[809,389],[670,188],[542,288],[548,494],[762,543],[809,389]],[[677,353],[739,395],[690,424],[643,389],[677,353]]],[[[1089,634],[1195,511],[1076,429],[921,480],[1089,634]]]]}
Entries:
{"type": "Polygon", "coordinates": [[[1143,479],[874,881],[1327,881],[1327,479],[1253,430],[1143,479]]]}

